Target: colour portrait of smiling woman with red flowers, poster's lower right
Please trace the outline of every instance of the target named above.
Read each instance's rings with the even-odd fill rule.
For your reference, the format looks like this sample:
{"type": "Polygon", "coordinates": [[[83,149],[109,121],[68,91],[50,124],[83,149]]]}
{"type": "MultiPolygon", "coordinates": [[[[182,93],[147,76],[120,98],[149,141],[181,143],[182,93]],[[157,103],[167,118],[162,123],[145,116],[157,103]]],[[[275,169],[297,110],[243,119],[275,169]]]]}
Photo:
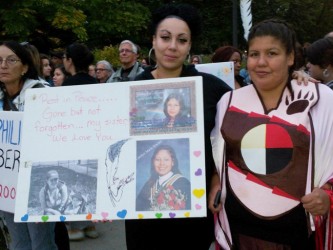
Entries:
{"type": "Polygon", "coordinates": [[[191,209],[188,174],[188,139],[138,142],[136,210],[191,209]]]}

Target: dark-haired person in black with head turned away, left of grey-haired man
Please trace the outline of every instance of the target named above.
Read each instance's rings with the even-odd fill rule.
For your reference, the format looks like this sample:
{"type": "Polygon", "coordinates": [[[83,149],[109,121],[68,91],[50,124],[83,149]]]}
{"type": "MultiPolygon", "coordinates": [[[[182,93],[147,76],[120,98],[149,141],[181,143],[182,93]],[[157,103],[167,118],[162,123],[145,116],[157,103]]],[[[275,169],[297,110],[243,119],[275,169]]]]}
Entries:
{"type": "Polygon", "coordinates": [[[94,55],[89,48],[82,43],[73,43],[66,48],[63,55],[63,64],[67,72],[71,74],[63,86],[94,84],[97,80],[88,74],[89,65],[94,61],[94,55]]]}

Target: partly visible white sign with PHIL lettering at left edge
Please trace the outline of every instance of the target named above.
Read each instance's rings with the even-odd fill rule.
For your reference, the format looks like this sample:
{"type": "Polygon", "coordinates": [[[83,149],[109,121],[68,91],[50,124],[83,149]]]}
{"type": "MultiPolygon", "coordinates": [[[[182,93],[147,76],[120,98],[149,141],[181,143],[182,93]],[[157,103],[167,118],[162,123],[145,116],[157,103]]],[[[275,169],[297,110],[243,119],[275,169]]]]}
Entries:
{"type": "Polygon", "coordinates": [[[22,112],[0,112],[0,210],[14,212],[20,167],[22,112]]]}

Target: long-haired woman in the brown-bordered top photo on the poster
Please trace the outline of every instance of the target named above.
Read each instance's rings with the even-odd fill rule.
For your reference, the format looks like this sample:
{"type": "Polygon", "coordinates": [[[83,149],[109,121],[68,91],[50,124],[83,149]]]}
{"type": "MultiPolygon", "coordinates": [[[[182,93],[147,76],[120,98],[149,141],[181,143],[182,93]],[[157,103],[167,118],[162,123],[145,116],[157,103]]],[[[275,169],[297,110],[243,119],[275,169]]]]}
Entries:
{"type": "Polygon", "coordinates": [[[195,122],[180,93],[168,95],[164,101],[163,112],[165,115],[163,126],[167,128],[191,126],[195,122]]]}

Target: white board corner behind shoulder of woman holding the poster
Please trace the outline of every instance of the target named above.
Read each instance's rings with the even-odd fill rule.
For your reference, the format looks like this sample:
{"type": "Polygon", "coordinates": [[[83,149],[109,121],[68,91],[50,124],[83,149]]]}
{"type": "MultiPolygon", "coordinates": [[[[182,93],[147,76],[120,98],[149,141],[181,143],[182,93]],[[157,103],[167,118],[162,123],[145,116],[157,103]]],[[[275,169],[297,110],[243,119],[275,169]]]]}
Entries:
{"type": "Polygon", "coordinates": [[[232,89],[235,89],[234,62],[195,64],[195,68],[200,72],[220,78],[232,89]]]}

